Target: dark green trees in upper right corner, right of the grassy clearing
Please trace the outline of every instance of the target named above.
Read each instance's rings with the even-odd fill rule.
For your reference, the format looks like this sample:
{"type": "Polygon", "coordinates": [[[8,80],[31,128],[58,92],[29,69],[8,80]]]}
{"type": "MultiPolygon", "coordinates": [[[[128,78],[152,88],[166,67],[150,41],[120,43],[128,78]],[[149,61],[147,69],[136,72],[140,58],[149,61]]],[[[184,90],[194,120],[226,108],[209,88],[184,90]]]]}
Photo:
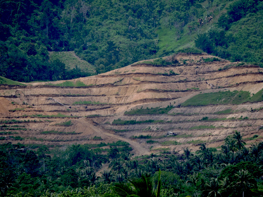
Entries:
{"type": "Polygon", "coordinates": [[[195,46],[233,62],[250,62],[262,67],[262,16],[262,1],[234,1],[227,7],[227,13],[219,17],[218,28],[199,34],[195,46]]]}

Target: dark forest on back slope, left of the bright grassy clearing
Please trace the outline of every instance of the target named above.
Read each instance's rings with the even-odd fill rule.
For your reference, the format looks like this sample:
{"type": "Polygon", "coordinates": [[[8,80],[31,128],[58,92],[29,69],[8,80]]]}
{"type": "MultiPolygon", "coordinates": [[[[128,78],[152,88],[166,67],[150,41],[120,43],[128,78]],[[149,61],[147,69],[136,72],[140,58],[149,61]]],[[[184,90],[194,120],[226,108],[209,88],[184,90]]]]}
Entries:
{"type": "Polygon", "coordinates": [[[0,1],[0,75],[28,82],[92,74],[77,68],[56,73],[60,67],[49,61],[48,51],[75,50],[97,73],[148,59],[158,52],[160,19],[166,17],[167,26],[180,33],[196,19],[198,5],[187,0],[0,1]]]}

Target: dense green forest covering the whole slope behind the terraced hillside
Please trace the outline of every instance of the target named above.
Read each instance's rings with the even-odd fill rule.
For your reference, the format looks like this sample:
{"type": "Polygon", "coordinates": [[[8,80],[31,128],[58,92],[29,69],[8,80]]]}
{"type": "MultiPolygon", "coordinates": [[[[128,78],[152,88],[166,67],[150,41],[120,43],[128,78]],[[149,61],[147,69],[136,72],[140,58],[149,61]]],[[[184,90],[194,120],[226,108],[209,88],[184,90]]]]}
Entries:
{"type": "Polygon", "coordinates": [[[260,0],[1,0],[0,76],[21,82],[90,76],[197,48],[263,65],[260,0]],[[196,48],[197,47],[197,48],[196,48]],[[75,51],[91,68],[49,52],[75,51]]]}

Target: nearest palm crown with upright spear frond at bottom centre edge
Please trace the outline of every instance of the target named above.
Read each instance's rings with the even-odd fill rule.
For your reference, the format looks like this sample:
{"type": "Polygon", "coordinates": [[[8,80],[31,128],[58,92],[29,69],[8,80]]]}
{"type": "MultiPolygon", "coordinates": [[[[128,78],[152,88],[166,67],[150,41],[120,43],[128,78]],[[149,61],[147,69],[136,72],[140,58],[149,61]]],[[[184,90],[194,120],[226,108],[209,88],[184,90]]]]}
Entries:
{"type": "Polygon", "coordinates": [[[128,179],[128,183],[117,183],[115,184],[113,191],[114,195],[104,194],[103,197],[159,197],[161,189],[161,170],[159,169],[158,186],[155,189],[153,178],[146,174],[142,175],[141,178],[128,179]]]}

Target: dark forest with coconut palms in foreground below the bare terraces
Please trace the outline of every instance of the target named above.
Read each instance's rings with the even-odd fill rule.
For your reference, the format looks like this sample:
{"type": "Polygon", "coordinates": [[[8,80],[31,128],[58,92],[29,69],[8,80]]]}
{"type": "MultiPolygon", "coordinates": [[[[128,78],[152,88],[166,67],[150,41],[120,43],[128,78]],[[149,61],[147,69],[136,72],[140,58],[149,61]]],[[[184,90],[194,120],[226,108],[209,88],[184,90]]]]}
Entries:
{"type": "Polygon", "coordinates": [[[50,148],[2,144],[1,196],[118,196],[121,187],[145,197],[155,196],[158,183],[162,197],[262,196],[263,142],[245,146],[237,131],[221,147],[201,144],[195,153],[185,148],[183,154],[132,157],[129,144],[121,141],[50,148]],[[136,191],[129,189],[131,183],[136,191]]]}

